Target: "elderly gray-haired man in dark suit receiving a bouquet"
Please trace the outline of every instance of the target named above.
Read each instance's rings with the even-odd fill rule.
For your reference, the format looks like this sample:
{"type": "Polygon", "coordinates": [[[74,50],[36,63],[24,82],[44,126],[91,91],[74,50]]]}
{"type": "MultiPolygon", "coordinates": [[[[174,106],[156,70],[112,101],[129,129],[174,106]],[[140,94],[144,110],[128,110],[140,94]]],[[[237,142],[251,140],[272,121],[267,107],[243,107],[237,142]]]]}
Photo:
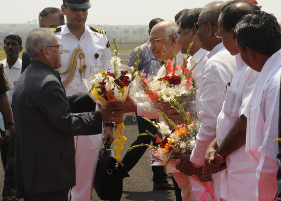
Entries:
{"type": "Polygon", "coordinates": [[[25,189],[28,200],[68,200],[76,183],[73,136],[101,133],[102,121],[119,117],[113,115],[118,107],[93,111],[95,104],[84,93],[66,97],[55,71],[61,66],[62,46],[50,29],[31,31],[26,49],[31,66],[18,79],[13,95],[15,185],[25,189]]]}

